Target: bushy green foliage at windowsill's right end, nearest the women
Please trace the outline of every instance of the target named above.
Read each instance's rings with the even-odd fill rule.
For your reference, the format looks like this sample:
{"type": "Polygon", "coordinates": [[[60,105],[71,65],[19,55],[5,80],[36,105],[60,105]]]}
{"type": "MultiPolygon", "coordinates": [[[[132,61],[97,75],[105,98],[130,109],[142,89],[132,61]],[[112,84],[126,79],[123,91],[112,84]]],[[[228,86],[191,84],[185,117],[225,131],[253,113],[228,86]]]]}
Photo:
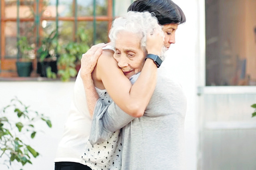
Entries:
{"type": "Polygon", "coordinates": [[[82,54],[89,49],[84,29],[78,29],[77,42],[69,42],[63,49],[58,59],[58,75],[62,81],[69,81],[77,75],[76,65],[80,65],[82,54]]]}

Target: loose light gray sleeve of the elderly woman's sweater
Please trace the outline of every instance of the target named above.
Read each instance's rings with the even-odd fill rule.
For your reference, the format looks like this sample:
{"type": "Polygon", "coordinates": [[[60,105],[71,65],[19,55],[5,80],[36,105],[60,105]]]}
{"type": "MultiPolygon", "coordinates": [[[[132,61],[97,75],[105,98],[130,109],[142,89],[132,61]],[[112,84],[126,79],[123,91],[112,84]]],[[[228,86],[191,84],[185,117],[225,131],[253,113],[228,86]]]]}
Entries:
{"type": "Polygon", "coordinates": [[[106,106],[101,99],[98,99],[94,108],[90,143],[107,141],[114,131],[123,128],[133,119],[135,117],[126,114],[114,102],[106,106]]]}

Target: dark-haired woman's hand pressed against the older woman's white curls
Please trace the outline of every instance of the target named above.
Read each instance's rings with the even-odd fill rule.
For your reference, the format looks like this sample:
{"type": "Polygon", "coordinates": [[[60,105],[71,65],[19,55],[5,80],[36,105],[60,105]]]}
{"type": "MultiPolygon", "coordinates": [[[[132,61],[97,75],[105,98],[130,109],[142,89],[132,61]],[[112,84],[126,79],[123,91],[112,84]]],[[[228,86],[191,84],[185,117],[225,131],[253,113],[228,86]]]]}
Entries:
{"type": "Polygon", "coordinates": [[[148,51],[148,54],[160,55],[164,47],[163,42],[164,37],[161,26],[154,28],[147,35],[146,49],[148,51]]]}

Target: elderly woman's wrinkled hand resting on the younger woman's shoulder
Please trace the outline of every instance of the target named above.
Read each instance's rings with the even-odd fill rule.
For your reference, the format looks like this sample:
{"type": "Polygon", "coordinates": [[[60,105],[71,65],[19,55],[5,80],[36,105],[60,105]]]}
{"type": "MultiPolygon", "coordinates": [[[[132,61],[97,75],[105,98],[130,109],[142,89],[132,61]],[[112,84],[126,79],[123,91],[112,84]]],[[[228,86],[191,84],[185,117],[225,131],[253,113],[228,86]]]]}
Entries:
{"type": "Polygon", "coordinates": [[[81,59],[81,78],[90,76],[97,64],[97,60],[102,54],[102,47],[105,47],[105,43],[99,43],[92,46],[86,53],[82,55],[81,59]]]}

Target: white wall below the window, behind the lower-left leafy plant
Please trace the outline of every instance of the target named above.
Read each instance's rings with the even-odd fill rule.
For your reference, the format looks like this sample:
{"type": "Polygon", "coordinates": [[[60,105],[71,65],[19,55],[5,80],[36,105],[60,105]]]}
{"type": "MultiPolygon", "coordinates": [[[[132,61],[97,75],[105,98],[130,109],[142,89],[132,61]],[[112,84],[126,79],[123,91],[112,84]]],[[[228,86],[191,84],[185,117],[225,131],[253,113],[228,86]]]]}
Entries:
{"type": "MultiPolygon", "coordinates": [[[[25,105],[31,106],[31,110],[38,111],[50,117],[52,128],[45,124],[35,138],[31,140],[31,146],[40,155],[34,159],[33,165],[26,165],[26,170],[54,169],[54,157],[56,148],[63,132],[66,114],[69,110],[74,82],[62,83],[58,81],[46,82],[20,82],[7,81],[0,83],[0,109],[10,103],[15,96],[25,105]]],[[[0,169],[8,169],[1,166],[0,169]]],[[[18,169],[18,168],[14,168],[18,169]]]]}

